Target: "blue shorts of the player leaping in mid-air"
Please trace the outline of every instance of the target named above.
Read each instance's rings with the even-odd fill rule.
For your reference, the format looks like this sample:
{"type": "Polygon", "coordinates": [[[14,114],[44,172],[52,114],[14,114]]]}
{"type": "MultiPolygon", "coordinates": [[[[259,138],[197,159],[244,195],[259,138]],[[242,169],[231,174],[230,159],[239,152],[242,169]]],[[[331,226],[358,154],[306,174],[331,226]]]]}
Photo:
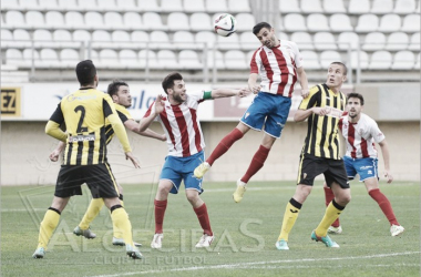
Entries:
{"type": "Polygon", "coordinates": [[[290,107],[291,99],[260,91],[240,122],[257,131],[265,125],[264,131],[267,134],[279,138],[290,107]]]}

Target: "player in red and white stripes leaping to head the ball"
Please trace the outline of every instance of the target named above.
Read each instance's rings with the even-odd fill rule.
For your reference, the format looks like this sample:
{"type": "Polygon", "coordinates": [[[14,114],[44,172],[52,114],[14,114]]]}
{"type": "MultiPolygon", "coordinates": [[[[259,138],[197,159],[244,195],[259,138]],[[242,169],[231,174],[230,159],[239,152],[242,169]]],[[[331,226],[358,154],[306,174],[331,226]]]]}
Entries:
{"type": "Polygon", "coordinates": [[[243,199],[248,181],[264,166],[276,138],[280,137],[288,119],[297,76],[302,89],[302,98],[308,95],[307,75],[297,44],[278,40],[275,29],[266,22],[256,24],[253,33],[261,42],[261,47],[251,58],[248,88],[257,95],[238,125],[219,142],[206,162],[194,171],[194,175],[202,178],[214,162],[250,129],[260,131],[264,127],[265,134],[260,146],[246,174],[237,181],[237,188],[233,195],[236,203],[243,199]],[[257,84],[258,76],[261,79],[260,84],[257,84]]]}

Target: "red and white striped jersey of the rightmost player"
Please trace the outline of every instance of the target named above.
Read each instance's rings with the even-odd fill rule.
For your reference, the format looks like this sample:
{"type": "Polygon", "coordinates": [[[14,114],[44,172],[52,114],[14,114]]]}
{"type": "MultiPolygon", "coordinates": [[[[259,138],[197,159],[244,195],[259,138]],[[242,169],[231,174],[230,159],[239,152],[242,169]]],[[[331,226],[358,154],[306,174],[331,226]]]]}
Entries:
{"type": "Polygon", "coordinates": [[[350,123],[348,116],[341,117],[339,130],[347,141],[346,155],[353,158],[377,157],[374,142],[386,138],[376,121],[363,113],[357,123],[350,123]]]}

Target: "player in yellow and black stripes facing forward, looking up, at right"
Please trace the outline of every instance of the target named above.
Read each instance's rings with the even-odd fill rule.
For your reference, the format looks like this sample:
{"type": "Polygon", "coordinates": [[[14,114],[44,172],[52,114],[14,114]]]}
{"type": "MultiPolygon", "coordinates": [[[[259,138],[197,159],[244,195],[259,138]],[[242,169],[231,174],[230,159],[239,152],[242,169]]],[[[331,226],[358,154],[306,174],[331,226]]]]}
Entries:
{"type": "Polygon", "coordinates": [[[297,122],[308,119],[308,129],[299,162],[297,188],[287,204],[280,235],[275,244],[279,250],[289,249],[289,233],[311,193],[315,177],[321,173],[335,198],[326,208],[319,226],[311,233],[311,239],[322,242],[327,247],[339,247],[327,233],[351,199],[343,161],[339,156],[338,137],[338,123],[346,104],[340,88],[346,80],[347,66],[341,62],[332,62],[326,83],[311,88],[309,96],[301,101],[294,115],[297,122]]]}

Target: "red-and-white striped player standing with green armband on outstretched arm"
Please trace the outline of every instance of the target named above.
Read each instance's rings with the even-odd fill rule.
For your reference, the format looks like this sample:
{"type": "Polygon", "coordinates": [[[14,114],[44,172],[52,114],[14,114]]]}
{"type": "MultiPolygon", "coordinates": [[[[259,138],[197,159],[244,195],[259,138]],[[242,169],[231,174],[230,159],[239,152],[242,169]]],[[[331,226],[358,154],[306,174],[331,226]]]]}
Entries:
{"type": "Polygon", "coordinates": [[[187,94],[183,76],[177,72],[168,74],[163,80],[162,86],[167,96],[160,95],[141,121],[141,131],[143,131],[157,120],[165,131],[168,146],[168,155],[161,172],[154,201],[155,235],[151,247],[162,248],[163,222],[168,194],[177,194],[182,181],[184,181],[186,197],[203,228],[203,236],[196,247],[208,247],[214,239],[214,234],[206,204],[199,197],[203,192],[203,178],[196,178],[193,175],[194,168],[204,161],[205,148],[201,122],[197,117],[198,104],[209,99],[245,96],[248,91],[218,89],[187,94]]]}

